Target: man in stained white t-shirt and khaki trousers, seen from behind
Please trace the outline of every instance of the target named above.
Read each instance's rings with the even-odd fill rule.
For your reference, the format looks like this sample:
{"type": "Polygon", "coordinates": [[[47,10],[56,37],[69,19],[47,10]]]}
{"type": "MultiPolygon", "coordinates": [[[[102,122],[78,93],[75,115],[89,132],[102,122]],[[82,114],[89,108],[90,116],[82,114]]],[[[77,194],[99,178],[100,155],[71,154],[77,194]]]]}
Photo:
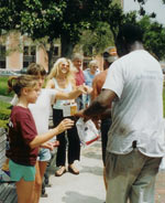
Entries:
{"type": "Polygon", "coordinates": [[[107,145],[106,203],[154,203],[155,177],[165,153],[163,74],[143,49],[143,32],[124,24],[116,39],[112,63],[101,94],[79,116],[92,118],[112,104],[107,145]]]}

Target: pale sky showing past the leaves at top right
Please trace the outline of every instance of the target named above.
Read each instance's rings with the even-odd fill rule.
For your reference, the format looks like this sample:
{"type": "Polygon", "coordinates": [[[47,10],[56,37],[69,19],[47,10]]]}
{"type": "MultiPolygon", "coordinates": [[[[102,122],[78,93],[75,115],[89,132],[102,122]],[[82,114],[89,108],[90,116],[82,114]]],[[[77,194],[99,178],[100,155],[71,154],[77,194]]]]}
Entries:
{"type": "MultiPolygon", "coordinates": [[[[129,12],[132,10],[139,10],[140,6],[134,0],[123,0],[123,10],[129,12]]],[[[144,4],[146,13],[156,13],[156,21],[165,25],[165,4],[162,3],[162,0],[146,0],[144,4]]]]}

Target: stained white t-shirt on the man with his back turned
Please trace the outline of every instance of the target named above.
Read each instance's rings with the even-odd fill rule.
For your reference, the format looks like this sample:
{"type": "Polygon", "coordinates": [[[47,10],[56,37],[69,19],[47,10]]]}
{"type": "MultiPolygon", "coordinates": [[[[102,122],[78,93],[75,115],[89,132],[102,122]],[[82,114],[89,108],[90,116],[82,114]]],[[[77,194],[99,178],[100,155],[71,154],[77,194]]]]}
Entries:
{"type": "Polygon", "coordinates": [[[116,61],[102,88],[113,90],[112,126],[107,150],[117,154],[139,150],[148,157],[163,157],[163,74],[160,63],[146,51],[133,51],[116,61]]]}

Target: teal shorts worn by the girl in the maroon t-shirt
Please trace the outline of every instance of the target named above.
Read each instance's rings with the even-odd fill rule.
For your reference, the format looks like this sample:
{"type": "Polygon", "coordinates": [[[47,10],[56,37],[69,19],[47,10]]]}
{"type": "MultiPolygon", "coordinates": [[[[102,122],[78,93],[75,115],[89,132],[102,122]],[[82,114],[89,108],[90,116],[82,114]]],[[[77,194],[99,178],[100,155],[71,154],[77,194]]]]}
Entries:
{"type": "Polygon", "coordinates": [[[9,170],[10,170],[11,181],[18,182],[21,179],[23,179],[24,181],[35,180],[35,167],[18,164],[12,160],[10,160],[9,170]]]}

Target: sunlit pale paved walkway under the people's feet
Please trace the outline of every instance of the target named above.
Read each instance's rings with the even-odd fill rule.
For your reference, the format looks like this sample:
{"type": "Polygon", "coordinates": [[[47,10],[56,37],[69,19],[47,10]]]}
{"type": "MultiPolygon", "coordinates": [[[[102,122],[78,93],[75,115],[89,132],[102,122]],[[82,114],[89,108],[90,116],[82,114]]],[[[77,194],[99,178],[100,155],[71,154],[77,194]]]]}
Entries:
{"type": "MultiPolygon", "coordinates": [[[[40,203],[103,203],[106,192],[102,180],[102,161],[100,141],[81,150],[79,164],[80,174],[65,173],[58,178],[52,171],[46,188],[48,197],[42,197],[40,203]]],[[[155,203],[165,203],[165,171],[156,179],[155,203]]]]}

